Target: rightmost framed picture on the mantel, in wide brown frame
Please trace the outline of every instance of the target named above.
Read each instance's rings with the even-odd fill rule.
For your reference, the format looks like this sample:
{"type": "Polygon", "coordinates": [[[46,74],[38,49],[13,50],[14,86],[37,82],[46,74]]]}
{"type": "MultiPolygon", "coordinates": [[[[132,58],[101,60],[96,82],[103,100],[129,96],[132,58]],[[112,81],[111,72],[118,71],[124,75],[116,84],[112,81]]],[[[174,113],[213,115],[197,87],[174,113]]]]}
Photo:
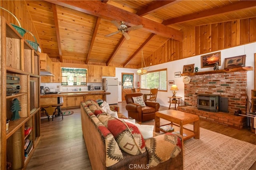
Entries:
{"type": "Polygon", "coordinates": [[[246,55],[239,55],[236,57],[225,58],[224,69],[242,67],[245,65],[246,55]]]}

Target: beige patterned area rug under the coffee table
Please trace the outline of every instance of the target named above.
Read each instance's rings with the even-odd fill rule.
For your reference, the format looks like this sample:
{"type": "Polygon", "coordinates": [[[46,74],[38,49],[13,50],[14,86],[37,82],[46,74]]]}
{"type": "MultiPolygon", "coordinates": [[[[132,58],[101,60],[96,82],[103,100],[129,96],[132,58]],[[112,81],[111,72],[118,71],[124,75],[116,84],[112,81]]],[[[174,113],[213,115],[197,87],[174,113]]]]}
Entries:
{"type": "MultiPolygon", "coordinates": [[[[184,127],[193,129],[190,124],[184,127]]],[[[204,128],[200,139],[184,141],[184,170],[248,170],[255,161],[256,145],[204,128]]]]}

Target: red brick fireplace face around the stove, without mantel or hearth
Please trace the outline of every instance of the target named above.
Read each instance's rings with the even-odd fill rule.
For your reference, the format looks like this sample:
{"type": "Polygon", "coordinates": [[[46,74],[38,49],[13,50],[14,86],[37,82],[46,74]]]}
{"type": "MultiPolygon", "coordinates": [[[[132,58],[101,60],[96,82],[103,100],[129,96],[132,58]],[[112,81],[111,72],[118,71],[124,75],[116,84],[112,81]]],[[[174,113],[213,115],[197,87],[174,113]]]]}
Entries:
{"type": "Polygon", "coordinates": [[[229,113],[246,112],[246,71],[190,75],[190,78],[190,83],[184,84],[185,105],[197,107],[198,94],[214,94],[228,98],[229,113]]]}

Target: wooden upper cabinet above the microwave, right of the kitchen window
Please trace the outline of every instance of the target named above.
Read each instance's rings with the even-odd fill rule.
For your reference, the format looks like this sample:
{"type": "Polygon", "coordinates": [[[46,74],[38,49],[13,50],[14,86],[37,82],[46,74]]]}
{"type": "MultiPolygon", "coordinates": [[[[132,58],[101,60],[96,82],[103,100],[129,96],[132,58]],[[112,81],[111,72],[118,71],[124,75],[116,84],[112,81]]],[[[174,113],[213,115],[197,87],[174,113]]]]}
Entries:
{"type": "Polygon", "coordinates": [[[102,66],[101,65],[88,65],[87,73],[88,83],[102,83],[102,66]]]}

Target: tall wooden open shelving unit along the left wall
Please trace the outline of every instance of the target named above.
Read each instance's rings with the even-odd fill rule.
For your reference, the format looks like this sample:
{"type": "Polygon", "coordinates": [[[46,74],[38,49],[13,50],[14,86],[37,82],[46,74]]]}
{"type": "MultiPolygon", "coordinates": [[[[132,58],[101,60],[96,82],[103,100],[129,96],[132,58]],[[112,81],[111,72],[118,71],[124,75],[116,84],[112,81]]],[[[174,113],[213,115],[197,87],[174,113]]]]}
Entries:
{"type": "Polygon", "coordinates": [[[4,17],[0,20],[0,169],[5,170],[9,162],[11,169],[21,170],[26,169],[40,140],[40,59],[39,54],[4,17]],[[6,75],[19,79],[19,82],[6,81],[6,75]],[[21,88],[18,93],[6,95],[7,85],[20,85],[21,88]],[[14,113],[18,114],[19,118],[12,120],[14,113]],[[8,128],[7,119],[10,120],[8,128]],[[25,129],[28,127],[31,127],[31,130],[25,135],[25,129]],[[31,141],[29,154],[24,150],[26,139],[31,141]]]}

